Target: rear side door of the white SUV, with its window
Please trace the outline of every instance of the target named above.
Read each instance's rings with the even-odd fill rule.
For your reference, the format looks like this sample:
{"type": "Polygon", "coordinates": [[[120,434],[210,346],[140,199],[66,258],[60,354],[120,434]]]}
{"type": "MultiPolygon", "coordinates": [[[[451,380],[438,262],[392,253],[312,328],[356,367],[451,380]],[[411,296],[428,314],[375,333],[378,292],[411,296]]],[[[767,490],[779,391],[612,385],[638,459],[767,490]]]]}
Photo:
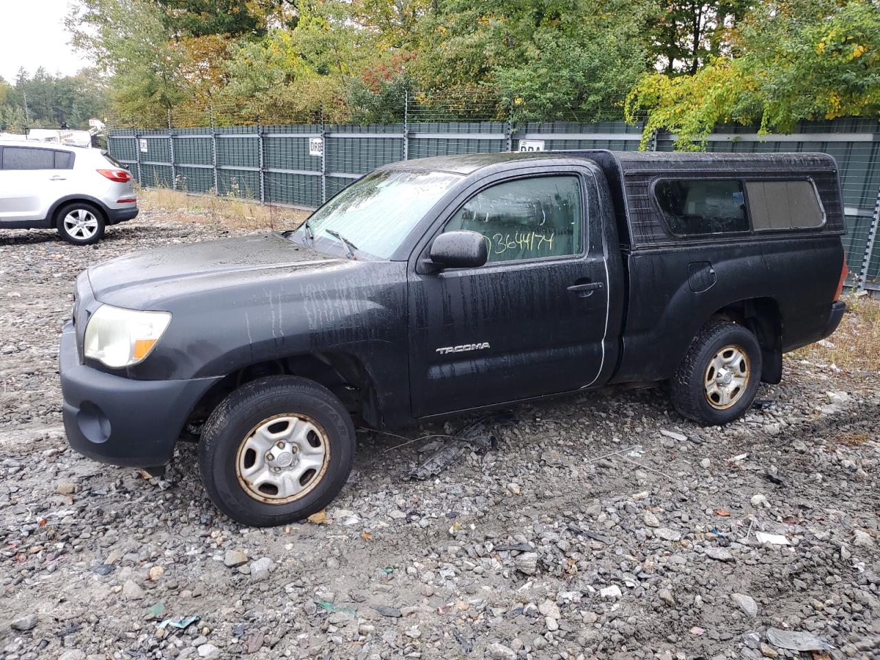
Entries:
{"type": "Polygon", "coordinates": [[[0,162],[0,225],[42,220],[63,186],[72,155],[46,147],[5,146],[0,162]],[[56,156],[56,154],[58,156],[56,156]],[[63,162],[56,164],[56,159],[63,162]]]}

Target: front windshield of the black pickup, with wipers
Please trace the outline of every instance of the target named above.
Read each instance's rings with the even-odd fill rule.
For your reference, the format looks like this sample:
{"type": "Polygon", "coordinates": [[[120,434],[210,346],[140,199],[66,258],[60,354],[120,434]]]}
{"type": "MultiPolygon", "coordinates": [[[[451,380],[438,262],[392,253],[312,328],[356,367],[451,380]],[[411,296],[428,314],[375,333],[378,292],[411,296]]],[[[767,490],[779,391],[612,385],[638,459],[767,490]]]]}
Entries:
{"type": "Polygon", "coordinates": [[[448,172],[372,172],[315,211],[309,228],[317,239],[339,243],[335,232],[359,252],[388,259],[458,180],[448,172]]]}

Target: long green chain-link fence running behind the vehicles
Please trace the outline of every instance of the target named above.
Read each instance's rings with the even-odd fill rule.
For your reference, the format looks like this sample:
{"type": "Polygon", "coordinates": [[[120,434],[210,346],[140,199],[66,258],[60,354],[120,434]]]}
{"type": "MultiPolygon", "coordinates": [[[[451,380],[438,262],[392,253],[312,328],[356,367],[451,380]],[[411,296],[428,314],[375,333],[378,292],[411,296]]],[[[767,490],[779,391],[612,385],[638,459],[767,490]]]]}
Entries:
{"type": "MultiPolygon", "coordinates": [[[[460,102],[459,102],[460,103],[460,102]]],[[[501,103],[462,107],[401,104],[402,121],[385,124],[326,123],[320,113],[301,123],[260,123],[226,111],[215,121],[209,106],[176,128],[111,128],[110,153],[127,165],[143,187],[187,194],[216,194],[266,204],[314,209],[353,180],[380,165],[411,158],[510,150],[637,150],[642,124],[623,121],[513,121],[501,103]],[[507,114],[507,118],[504,118],[507,114]],[[454,119],[454,117],[467,117],[454,119]],[[502,121],[499,121],[499,116],[502,121]],[[207,118],[206,125],[192,121],[207,118]],[[450,119],[453,118],[453,119],[450,119]]],[[[286,118],[285,119],[289,119],[286,118]]],[[[672,150],[675,136],[658,134],[654,150],[672,150]]],[[[869,119],[803,122],[790,135],[759,136],[755,128],[719,127],[709,151],[822,151],[840,165],[847,216],[844,246],[858,289],[880,290],[880,124],[869,119]]]]}

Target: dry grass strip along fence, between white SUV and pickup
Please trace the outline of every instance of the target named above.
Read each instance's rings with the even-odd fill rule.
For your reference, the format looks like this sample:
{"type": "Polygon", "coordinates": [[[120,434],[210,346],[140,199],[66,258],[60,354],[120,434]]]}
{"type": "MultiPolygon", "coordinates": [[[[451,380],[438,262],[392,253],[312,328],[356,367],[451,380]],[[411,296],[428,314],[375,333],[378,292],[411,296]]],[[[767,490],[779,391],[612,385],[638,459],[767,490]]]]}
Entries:
{"type": "Polygon", "coordinates": [[[141,188],[138,204],[161,211],[170,220],[214,224],[234,229],[296,229],[312,211],[232,199],[216,194],[187,194],[171,188],[141,188]]]}

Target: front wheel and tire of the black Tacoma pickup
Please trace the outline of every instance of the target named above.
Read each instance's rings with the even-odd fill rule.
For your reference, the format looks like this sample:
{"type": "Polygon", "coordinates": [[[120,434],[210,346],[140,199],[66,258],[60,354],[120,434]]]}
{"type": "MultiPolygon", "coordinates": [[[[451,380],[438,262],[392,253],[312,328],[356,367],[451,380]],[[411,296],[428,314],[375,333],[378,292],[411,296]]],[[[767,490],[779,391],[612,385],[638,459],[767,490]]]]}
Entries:
{"type": "Polygon", "coordinates": [[[211,502],[254,527],[324,509],[345,486],[354,458],[348,410],[325,387],[295,376],[259,378],[231,392],[199,444],[211,502]]]}

